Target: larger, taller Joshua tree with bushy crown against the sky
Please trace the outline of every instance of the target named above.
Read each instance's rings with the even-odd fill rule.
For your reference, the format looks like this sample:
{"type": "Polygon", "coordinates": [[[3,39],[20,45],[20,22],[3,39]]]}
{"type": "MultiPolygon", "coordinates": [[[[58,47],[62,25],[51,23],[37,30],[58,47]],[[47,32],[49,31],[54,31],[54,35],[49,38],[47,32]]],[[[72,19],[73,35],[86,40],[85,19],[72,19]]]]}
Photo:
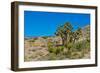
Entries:
{"type": "Polygon", "coordinates": [[[63,45],[67,45],[72,29],[73,27],[69,22],[66,22],[64,25],[61,25],[57,28],[56,35],[62,38],[63,45]]]}

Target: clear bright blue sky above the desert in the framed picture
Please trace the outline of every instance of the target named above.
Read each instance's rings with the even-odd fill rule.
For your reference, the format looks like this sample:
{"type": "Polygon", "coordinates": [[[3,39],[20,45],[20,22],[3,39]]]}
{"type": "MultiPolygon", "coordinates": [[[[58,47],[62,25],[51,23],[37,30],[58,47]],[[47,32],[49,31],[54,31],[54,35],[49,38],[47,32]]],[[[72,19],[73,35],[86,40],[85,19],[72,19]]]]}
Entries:
{"type": "Polygon", "coordinates": [[[70,22],[73,30],[90,25],[90,14],[24,11],[25,37],[54,36],[59,25],[70,22]]]}

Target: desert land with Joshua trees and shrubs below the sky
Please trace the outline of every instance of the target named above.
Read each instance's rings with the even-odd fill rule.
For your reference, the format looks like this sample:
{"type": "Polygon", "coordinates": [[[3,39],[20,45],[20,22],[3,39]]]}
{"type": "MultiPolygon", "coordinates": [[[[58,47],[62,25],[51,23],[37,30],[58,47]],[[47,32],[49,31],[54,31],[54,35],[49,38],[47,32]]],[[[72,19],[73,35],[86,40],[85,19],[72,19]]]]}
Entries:
{"type": "Polygon", "coordinates": [[[90,58],[90,25],[77,30],[66,22],[54,36],[25,37],[24,61],[90,58]]]}

